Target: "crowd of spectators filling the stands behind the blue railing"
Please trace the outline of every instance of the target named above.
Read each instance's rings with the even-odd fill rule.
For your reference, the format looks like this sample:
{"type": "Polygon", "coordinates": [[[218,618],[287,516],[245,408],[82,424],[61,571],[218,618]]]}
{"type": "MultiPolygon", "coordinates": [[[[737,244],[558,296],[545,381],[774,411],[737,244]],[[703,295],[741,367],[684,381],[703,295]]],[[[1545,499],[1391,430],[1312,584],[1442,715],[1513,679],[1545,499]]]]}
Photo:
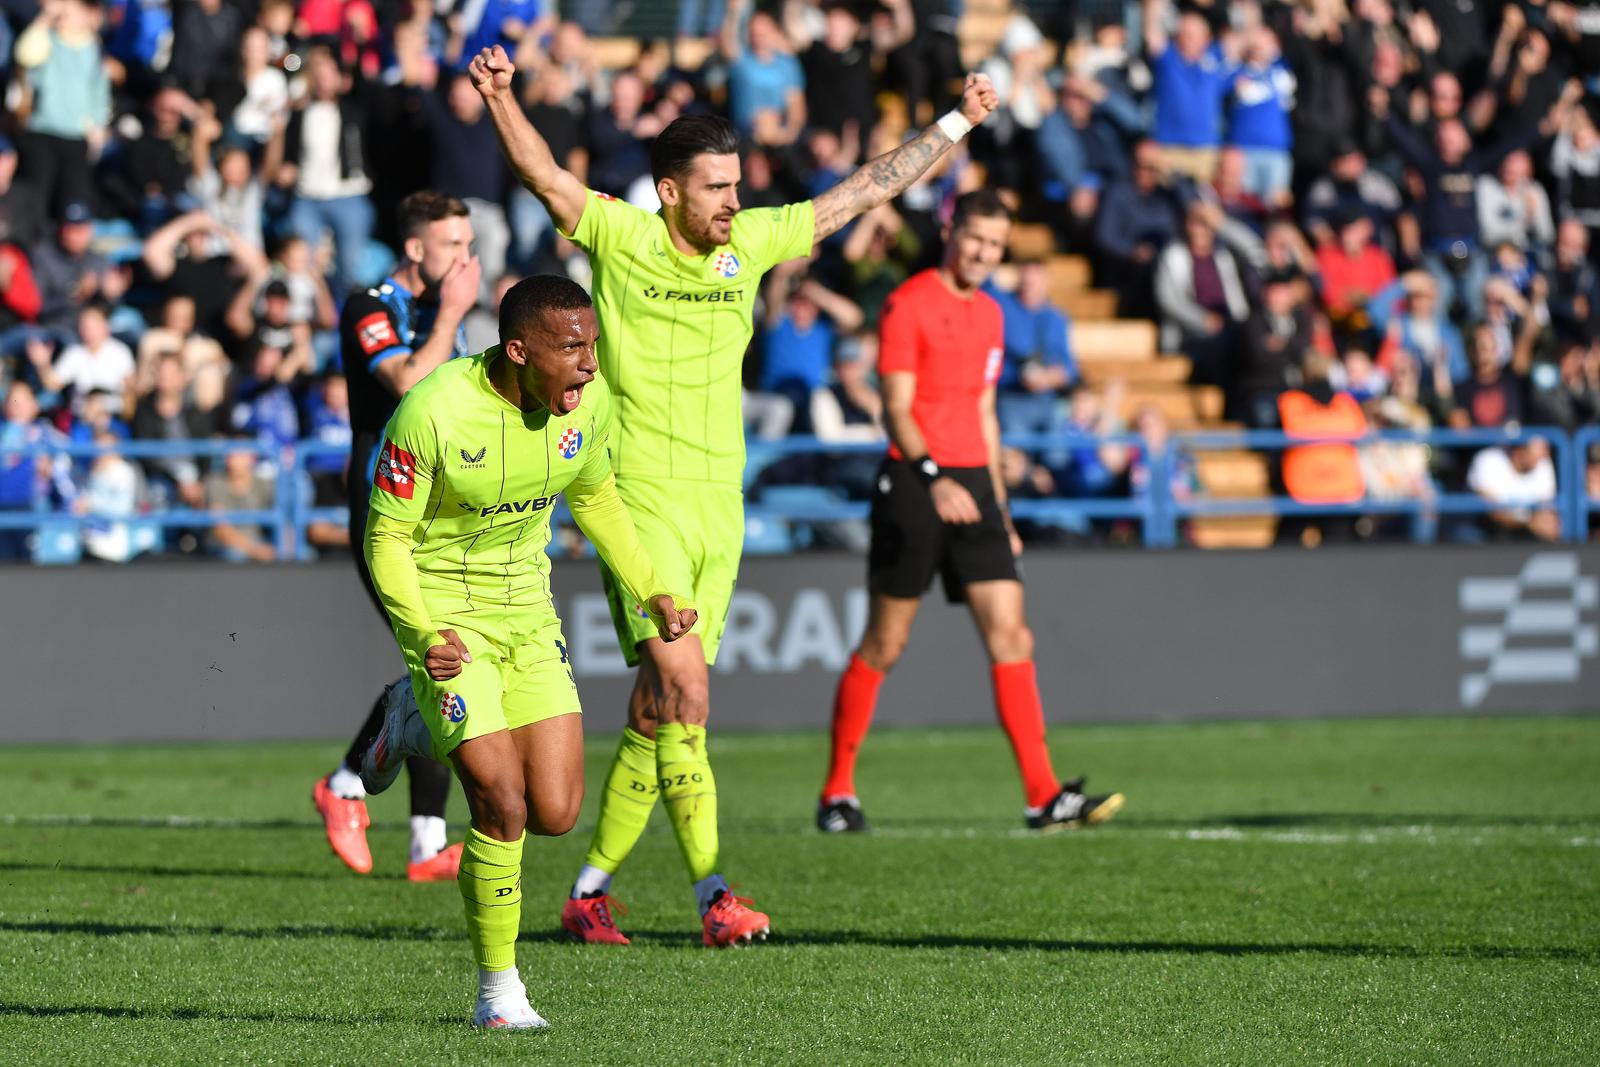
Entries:
{"type": "MultiPolygon", "coordinates": [[[[338,309],[384,277],[394,208],[421,187],[472,211],[474,346],[493,344],[512,278],[584,282],[584,258],[499,155],[466,75],[482,46],[514,54],[526,112],[565,166],[645,206],[650,139],[677,115],[726,115],[746,144],[742,205],[776,205],[931,122],[963,74],[960,0],[682,0],[674,37],[608,66],[592,34],[614,32],[626,6],[5,5],[0,448],[224,437],[270,456],[347,442],[338,309]]],[[[949,205],[981,184],[1048,226],[1054,253],[1088,258],[1117,314],[1157,323],[1160,350],[1219,387],[1234,422],[1352,437],[1600,422],[1600,2],[1013,5],[978,69],[1002,107],[966,147],[813,261],[771,272],[747,362],[752,440],[883,440],[883,301],[936,261],[949,205]]],[[[1190,458],[1150,462],[1171,434],[1162,411],[1085,384],[1045,264],[1008,264],[992,288],[1003,429],[1142,438],[1008,453],[1013,494],[1138,498],[1155,470],[1194,493],[1190,458]]],[[[1350,456],[1357,498],[1501,504],[1453,536],[1557,533],[1539,443],[1350,456]]],[[[0,509],[254,510],[270,504],[270,467],[0,451],[0,509]]],[[[1341,486],[1307,483],[1309,469],[1274,464],[1274,485],[1338,502],[1341,486]]],[[[314,462],[310,478],[315,499],[342,499],[342,461],[314,462]]],[[[866,499],[870,482],[870,459],[805,458],[768,466],[752,493],[802,483],[866,499]]],[[[1430,522],[1403,526],[1347,533],[1437,536],[1430,522]]],[[[90,553],[139,550],[107,530],[90,553]]],[[[331,549],[344,534],[318,525],[312,539],[331,549]]],[[[182,541],[202,545],[275,555],[250,525],[182,541]]],[[[19,531],[0,530],[0,557],[24,552],[19,531]]]]}

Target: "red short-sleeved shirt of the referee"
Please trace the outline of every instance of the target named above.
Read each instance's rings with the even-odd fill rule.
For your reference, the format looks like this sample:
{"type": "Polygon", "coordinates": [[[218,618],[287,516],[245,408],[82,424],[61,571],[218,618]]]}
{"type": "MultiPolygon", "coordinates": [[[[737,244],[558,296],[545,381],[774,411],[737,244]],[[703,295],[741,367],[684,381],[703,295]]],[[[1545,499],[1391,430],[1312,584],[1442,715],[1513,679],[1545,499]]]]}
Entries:
{"type": "MultiPolygon", "coordinates": [[[[878,320],[878,376],[910,371],[910,416],[941,467],[987,467],[978,418],[984,390],[1000,381],[1005,355],[1000,306],[987,293],[960,298],[923,270],[890,293],[878,320]]],[[[890,443],[890,456],[904,459],[890,443]]]]}

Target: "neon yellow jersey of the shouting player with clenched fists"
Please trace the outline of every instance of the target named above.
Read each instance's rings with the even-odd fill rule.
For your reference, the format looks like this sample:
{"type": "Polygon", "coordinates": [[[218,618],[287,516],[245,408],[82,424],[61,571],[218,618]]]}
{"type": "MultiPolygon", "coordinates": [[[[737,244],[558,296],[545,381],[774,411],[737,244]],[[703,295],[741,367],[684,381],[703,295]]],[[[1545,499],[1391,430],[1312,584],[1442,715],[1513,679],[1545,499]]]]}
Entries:
{"type": "MultiPolygon", "coordinates": [[[[435,619],[528,609],[554,619],[544,547],[557,494],[568,491],[574,512],[616,498],[605,381],[595,378],[568,414],[525,413],[490,384],[498,354],[451,360],[406,392],[378,453],[371,509],[411,525],[422,606],[435,619]]],[[[621,539],[637,550],[626,525],[621,539]]],[[[627,569],[638,584],[654,581],[627,569]]]]}

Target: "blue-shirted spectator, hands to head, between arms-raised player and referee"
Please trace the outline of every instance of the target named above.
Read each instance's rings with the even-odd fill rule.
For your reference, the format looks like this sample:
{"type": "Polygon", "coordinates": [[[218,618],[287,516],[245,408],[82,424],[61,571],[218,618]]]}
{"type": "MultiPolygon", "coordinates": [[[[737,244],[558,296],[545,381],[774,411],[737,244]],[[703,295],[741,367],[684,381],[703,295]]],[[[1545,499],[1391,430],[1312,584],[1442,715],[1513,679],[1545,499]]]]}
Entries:
{"type": "Polygon", "coordinates": [[[811,394],[829,382],[834,342],[840,333],[861,328],[861,309],[822,286],[814,278],[795,285],[789,299],[779,299],[787,277],[774,272],[766,296],[765,360],[762,392],[787,397],[794,403],[798,434],[810,434],[811,394]]]}

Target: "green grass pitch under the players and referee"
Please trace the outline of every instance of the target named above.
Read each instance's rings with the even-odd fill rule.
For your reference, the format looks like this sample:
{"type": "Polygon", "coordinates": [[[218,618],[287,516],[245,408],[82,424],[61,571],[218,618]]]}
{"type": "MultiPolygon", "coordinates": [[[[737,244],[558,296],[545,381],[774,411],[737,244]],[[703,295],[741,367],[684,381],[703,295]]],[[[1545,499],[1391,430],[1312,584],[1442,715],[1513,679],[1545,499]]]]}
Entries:
{"type": "Polygon", "coordinates": [[[741,952],[699,947],[659,814],[616,885],[634,945],[555,937],[590,798],[526,851],[534,1035],[467,1027],[461,902],[403,880],[403,787],[373,875],[328,853],[336,745],[8,749],[0,1062],[1600,1062],[1600,718],[1053,742],[1128,793],[1115,822],[1027,837],[998,731],[885,729],[878,830],[824,838],[822,734],[714,733],[725,865],[774,921],[741,952]]]}

